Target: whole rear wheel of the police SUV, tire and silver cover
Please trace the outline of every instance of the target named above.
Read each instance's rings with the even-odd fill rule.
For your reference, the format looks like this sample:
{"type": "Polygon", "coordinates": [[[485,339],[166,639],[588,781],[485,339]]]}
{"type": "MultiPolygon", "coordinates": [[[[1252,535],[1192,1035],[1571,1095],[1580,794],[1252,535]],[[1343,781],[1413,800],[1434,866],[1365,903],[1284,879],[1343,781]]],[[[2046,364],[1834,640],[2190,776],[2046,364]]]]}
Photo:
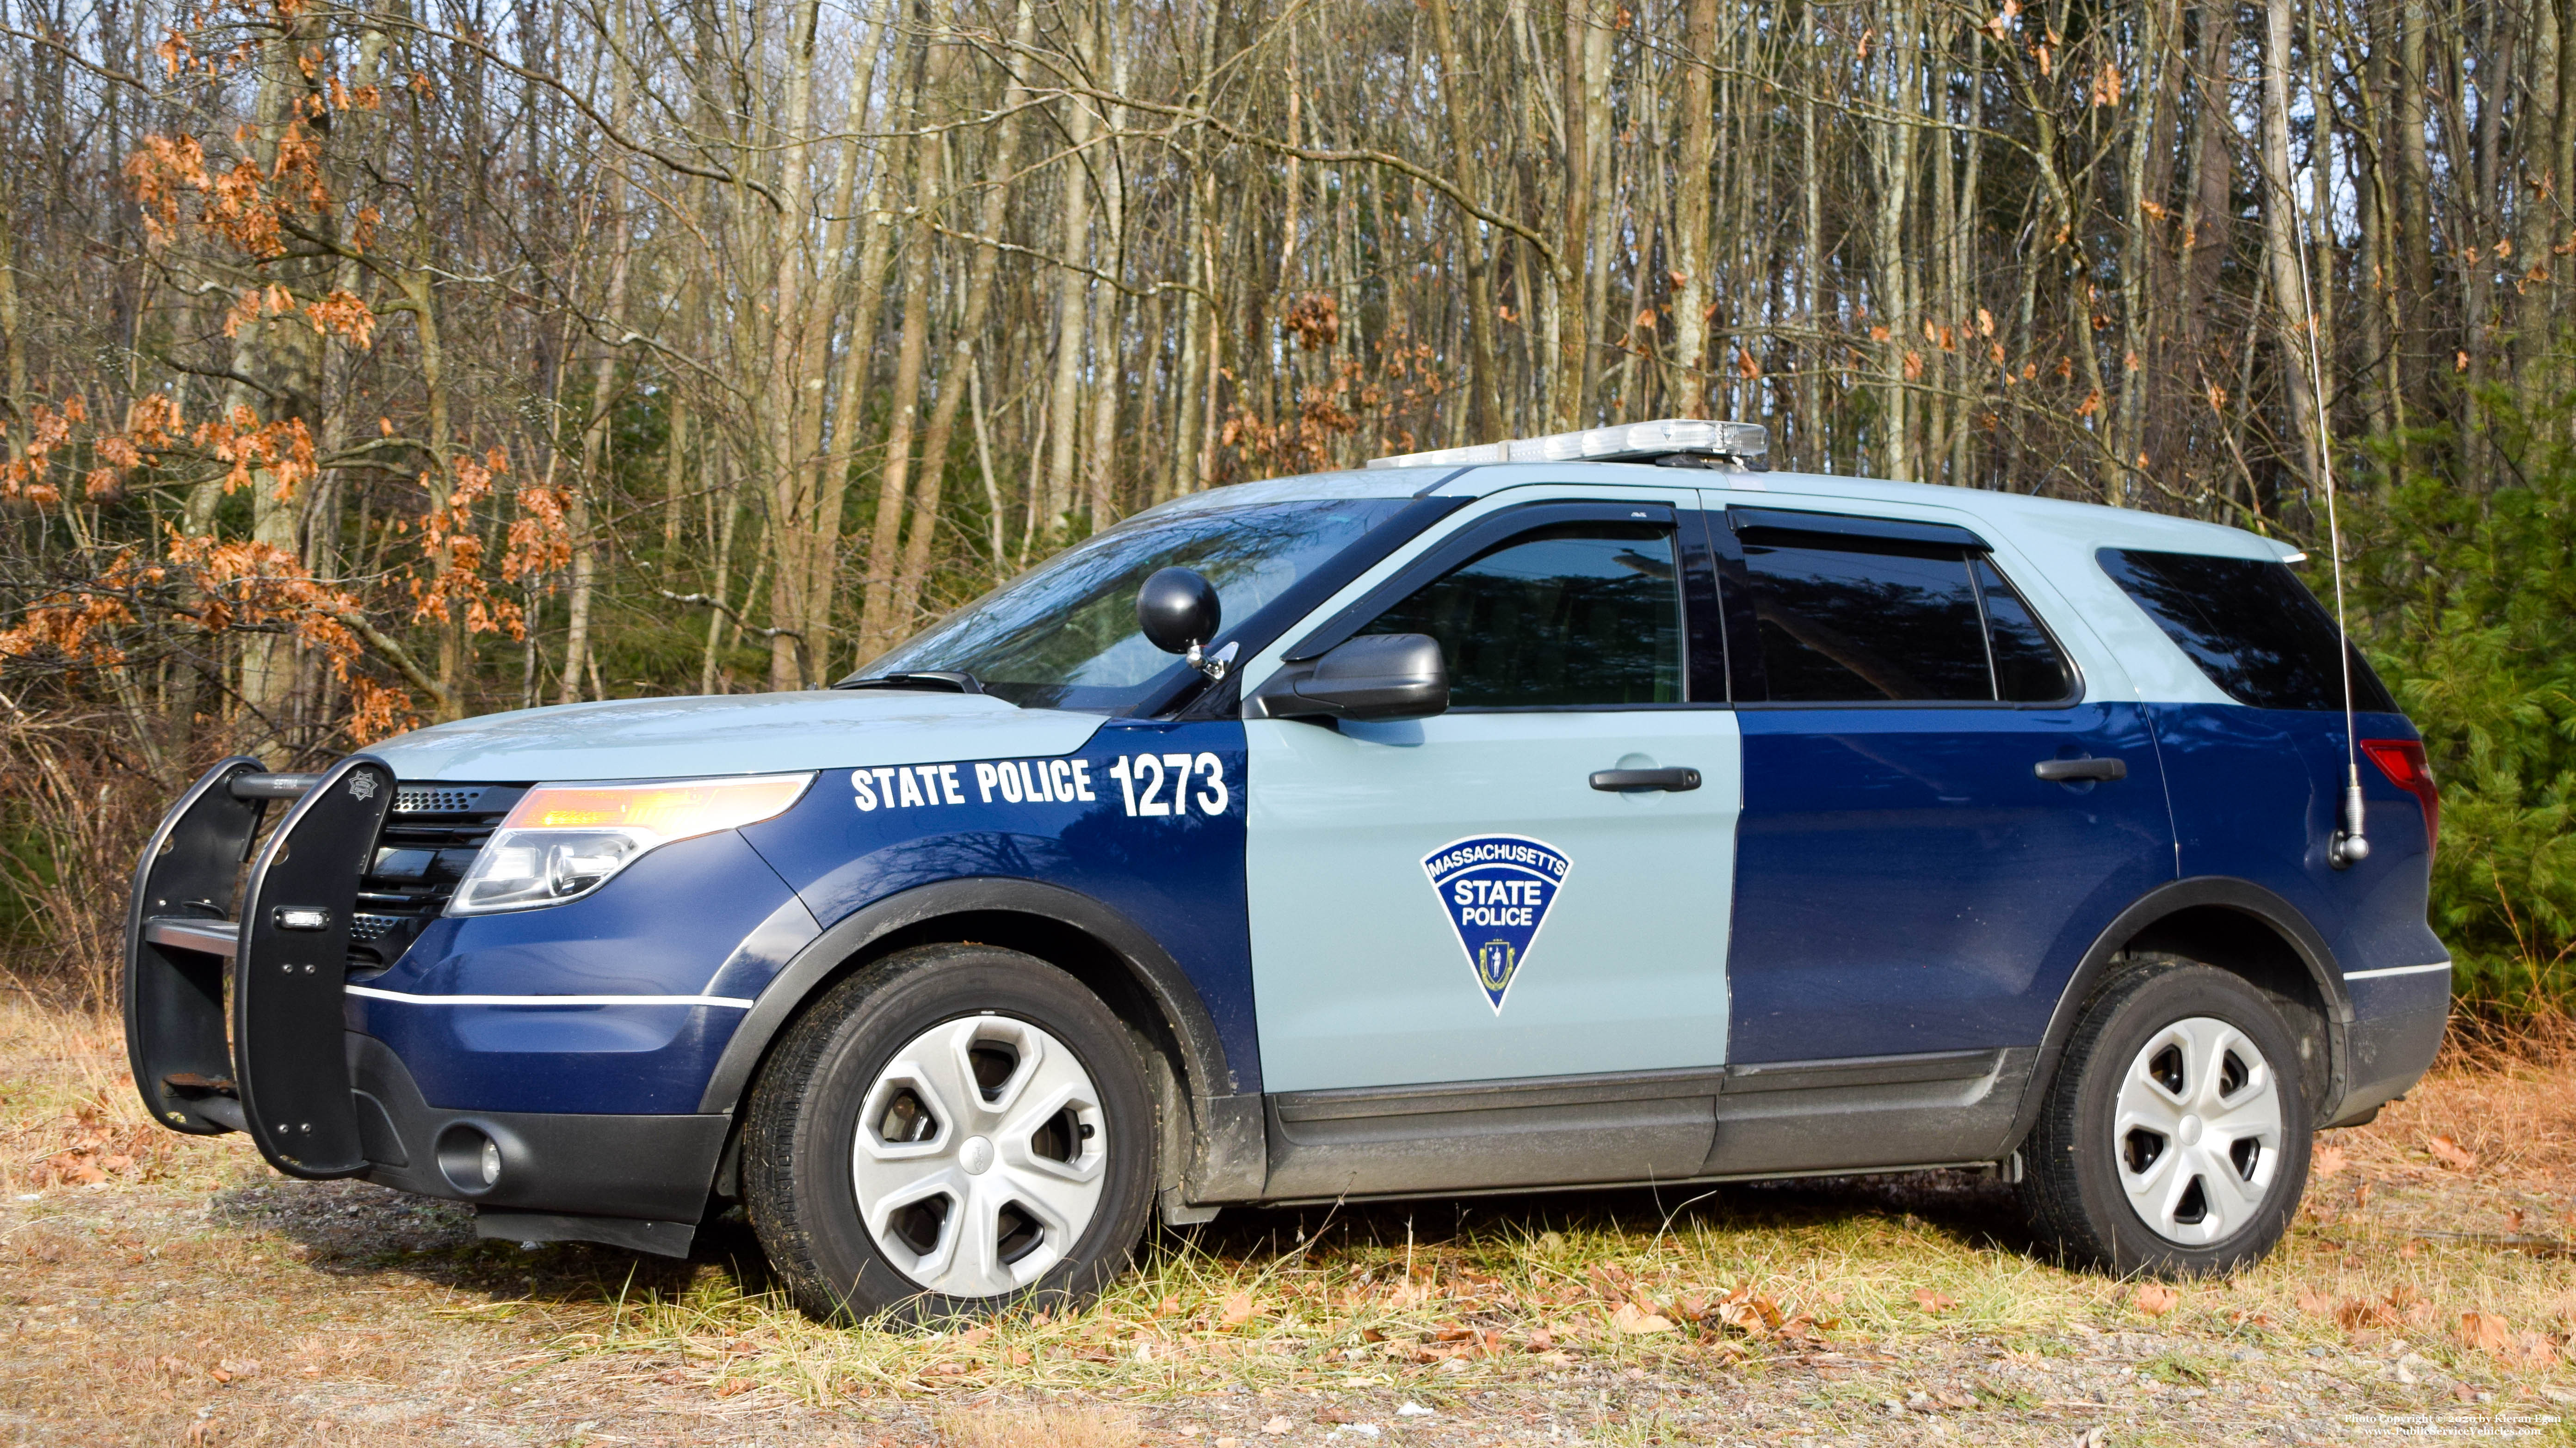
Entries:
{"type": "Polygon", "coordinates": [[[2022,1208],[2058,1257],[2197,1278],[2259,1262],[2308,1188],[2298,1043],[2239,976],[2143,956],[2076,1023],[2022,1144],[2022,1208]]]}

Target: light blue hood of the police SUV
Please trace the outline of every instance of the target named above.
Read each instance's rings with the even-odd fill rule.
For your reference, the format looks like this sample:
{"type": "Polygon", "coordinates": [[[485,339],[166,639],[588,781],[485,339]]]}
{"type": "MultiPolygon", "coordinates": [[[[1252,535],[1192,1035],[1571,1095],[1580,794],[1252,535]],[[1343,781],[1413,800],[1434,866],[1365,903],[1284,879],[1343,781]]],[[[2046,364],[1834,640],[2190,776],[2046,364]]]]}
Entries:
{"type": "Polygon", "coordinates": [[[1097,714],[981,693],[832,691],[559,703],[433,724],[366,750],[404,781],[750,776],[1066,755],[1097,714]]]}

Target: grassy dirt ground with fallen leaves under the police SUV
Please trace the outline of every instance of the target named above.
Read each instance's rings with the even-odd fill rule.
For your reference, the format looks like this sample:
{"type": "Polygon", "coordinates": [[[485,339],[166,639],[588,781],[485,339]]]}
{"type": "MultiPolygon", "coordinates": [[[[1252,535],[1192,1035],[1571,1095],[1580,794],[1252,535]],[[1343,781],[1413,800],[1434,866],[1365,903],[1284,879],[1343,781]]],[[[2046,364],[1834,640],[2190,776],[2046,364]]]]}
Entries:
{"type": "Polygon", "coordinates": [[[2321,1139],[2272,1262],[2038,1260],[1976,1175],[1229,1211],[1097,1309],[837,1332],[739,1226],[477,1242],[142,1121],[113,1028],[0,1010],[0,1443],[2576,1443],[2576,1064],[2321,1139]]]}

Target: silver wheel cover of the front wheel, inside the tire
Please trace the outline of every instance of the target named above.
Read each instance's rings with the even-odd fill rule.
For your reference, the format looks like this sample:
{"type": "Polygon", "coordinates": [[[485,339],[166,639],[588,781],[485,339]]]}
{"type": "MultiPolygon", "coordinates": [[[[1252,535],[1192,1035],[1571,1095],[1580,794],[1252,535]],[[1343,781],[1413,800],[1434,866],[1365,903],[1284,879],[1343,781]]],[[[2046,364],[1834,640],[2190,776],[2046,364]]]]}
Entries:
{"type": "Polygon", "coordinates": [[[896,1051],[850,1152],[876,1250],[961,1299],[1025,1288],[1061,1262],[1100,1208],[1105,1167],[1100,1087],[1072,1049],[1007,1015],[948,1020],[896,1051]]]}

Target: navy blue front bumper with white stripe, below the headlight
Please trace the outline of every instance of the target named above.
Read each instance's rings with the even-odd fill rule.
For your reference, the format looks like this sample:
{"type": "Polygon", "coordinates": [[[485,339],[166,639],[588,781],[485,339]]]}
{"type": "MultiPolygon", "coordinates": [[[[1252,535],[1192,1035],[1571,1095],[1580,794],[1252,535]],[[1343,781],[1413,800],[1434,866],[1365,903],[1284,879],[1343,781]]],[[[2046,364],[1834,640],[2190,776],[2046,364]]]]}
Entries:
{"type": "Polygon", "coordinates": [[[801,915],[742,835],[680,840],[585,899],[440,917],[389,969],[350,979],[348,1025],[392,1046],[440,1108],[696,1110],[742,1007],[688,1000],[757,946],[775,953],[783,910],[788,925],[801,915]],[[659,1002],[526,1002],[613,995],[659,1002]]]}

